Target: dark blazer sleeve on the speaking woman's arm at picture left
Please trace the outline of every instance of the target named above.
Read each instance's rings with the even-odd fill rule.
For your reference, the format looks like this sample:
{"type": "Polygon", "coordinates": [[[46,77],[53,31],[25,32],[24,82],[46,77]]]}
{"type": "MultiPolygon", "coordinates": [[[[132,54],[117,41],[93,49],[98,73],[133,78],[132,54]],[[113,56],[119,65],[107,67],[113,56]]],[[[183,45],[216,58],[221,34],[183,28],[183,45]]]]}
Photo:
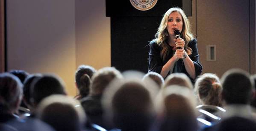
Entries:
{"type": "Polygon", "coordinates": [[[161,73],[163,64],[160,58],[161,47],[159,47],[156,42],[150,42],[150,52],[149,52],[149,65],[148,72],[153,71],[156,73],[161,73]]]}

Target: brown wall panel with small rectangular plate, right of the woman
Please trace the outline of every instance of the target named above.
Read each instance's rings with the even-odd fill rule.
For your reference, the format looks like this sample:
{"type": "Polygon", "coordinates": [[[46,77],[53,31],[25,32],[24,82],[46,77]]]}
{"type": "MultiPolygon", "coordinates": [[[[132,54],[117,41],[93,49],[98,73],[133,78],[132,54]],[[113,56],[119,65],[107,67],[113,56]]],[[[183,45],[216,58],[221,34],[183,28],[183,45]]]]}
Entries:
{"type": "Polygon", "coordinates": [[[230,68],[250,71],[249,0],[197,0],[197,37],[203,73],[221,76],[230,68]],[[206,61],[216,45],[216,61],[206,61]]]}

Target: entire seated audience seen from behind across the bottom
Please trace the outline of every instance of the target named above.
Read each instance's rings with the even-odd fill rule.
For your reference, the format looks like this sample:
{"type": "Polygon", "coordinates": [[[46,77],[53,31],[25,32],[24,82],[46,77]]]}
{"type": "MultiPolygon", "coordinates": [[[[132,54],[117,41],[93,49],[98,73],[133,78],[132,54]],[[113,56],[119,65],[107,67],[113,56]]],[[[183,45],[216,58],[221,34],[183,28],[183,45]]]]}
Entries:
{"type": "Polygon", "coordinates": [[[255,131],[256,76],[231,69],[167,78],[81,65],[79,93],[54,74],[0,73],[1,131],[255,131]],[[234,124],[235,123],[235,124],[234,124]],[[238,128],[239,127],[239,128],[238,128]]]}

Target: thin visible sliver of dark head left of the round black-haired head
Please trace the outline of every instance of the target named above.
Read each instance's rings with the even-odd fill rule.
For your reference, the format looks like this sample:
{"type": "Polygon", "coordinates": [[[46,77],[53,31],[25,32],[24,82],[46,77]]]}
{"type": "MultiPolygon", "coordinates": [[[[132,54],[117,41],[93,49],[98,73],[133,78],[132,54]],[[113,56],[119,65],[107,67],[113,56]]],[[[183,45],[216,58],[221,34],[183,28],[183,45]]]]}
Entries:
{"type": "Polygon", "coordinates": [[[29,75],[25,81],[24,81],[24,86],[23,86],[23,101],[26,104],[26,106],[30,109],[31,108],[31,94],[30,94],[30,90],[31,90],[31,84],[35,79],[39,79],[41,77],[41,74],[32,74],[29,75]]]}

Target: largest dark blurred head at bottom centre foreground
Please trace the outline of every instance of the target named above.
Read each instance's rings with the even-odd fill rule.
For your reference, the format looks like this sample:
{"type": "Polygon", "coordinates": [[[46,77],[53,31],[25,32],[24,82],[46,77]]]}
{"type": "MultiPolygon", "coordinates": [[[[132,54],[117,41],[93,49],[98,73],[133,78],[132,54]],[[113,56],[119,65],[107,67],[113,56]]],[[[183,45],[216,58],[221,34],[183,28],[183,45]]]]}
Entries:
{"type": "Polygon", "coordinates": [[[149,110],[152,107],[150,93],[143,85],[126,83],[120,87],[112,99],[114,122],[121,129],[145,131],[149,126],[149,110]]]}

